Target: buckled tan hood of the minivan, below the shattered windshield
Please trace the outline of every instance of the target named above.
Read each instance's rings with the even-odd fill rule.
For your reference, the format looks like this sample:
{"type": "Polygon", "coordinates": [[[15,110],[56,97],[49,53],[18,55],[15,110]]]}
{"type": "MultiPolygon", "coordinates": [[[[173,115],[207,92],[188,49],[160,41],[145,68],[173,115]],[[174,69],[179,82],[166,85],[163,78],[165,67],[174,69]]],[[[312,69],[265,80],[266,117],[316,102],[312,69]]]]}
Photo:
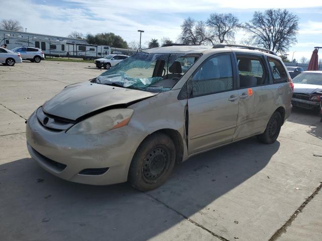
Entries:
{"type": "Polygon", "coordinates": [[[87,81],[67,86],[42,108],[48,114],[75,120],[104,107],[128,104],[156,94],[87,81]]]}

